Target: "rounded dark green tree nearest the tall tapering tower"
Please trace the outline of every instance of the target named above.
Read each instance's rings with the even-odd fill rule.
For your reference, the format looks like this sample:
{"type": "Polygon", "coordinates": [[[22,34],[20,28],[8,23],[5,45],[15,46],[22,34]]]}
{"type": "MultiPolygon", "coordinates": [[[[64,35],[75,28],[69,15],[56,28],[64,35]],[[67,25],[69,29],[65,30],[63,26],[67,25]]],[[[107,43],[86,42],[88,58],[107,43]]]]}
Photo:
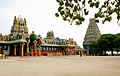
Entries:
{"type": "Polygon", "coordinates": [[[96,44],[97,49],[99,49],[97,53],[99,55],[105,55],[106,51],[111,51],[111,55],[114,55],[113,51],[115,51],[115,49],[118,49],[119,47],[119,46],[116,46],[116,42],[119,42],[119,41],[116,39],[116,36],[113,34],[101,35],[101,37],[99,38],[96,44]]]}

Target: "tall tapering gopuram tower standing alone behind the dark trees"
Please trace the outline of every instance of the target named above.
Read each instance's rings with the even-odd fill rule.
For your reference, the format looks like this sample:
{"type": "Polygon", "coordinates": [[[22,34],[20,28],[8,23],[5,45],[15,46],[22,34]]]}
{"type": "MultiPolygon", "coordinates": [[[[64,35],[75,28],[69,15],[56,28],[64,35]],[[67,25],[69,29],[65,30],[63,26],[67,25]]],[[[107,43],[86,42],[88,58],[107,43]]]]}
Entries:
{"type": "Polygon", "coordinates": [[[90,47],[89,45],[92,42],[96,42],[99,38],[100,38],[101,34],[100,34],[100,30],[95,22],[94,18],[91,18],[89,20],[89,25],[84,37],[84,41],[83,41],[83,48],[86,49],[86,54],[90,55],[90,47]]]}

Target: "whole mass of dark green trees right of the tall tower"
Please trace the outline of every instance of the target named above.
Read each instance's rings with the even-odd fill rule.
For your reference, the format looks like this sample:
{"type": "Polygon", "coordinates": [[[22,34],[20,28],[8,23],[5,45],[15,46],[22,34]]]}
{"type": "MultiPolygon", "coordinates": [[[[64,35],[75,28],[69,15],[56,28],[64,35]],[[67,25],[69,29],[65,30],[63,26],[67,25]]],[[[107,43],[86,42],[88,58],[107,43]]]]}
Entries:
{"type": "Polygon", "coordinates": [[[104,55],[106,51],[120,51],[120,33],[118,34],[103,34],[100,39],[90,45],[90,50],[92,54],[104,55]]]}

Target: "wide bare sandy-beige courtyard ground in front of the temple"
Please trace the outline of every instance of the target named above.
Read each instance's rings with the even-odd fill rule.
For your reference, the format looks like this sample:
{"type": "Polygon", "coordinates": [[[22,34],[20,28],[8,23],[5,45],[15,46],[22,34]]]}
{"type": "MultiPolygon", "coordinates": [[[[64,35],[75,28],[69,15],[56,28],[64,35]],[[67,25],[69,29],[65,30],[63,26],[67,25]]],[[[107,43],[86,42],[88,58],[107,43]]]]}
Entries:
{"type": "Polygon", "coordinates": [[[9,57],[0,76],[120,76],[120,56],[9,57]]]}

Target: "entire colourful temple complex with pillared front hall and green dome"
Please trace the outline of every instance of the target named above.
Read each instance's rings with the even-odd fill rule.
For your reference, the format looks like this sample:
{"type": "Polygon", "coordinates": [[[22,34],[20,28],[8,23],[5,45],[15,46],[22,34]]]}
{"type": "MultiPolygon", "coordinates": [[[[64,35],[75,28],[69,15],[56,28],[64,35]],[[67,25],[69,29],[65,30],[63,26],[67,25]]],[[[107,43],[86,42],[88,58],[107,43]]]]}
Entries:
{"type": "Polygon", "coordinates": [[[76,55],[82,51],[73,38],[55,38],[53,31],[48,31],[46,38],[36,35],[34,31],[28,34],[26,19],[21,17],[14,17],[9,35],[0,33],[0,53],[7,56],[76,55]]]}

